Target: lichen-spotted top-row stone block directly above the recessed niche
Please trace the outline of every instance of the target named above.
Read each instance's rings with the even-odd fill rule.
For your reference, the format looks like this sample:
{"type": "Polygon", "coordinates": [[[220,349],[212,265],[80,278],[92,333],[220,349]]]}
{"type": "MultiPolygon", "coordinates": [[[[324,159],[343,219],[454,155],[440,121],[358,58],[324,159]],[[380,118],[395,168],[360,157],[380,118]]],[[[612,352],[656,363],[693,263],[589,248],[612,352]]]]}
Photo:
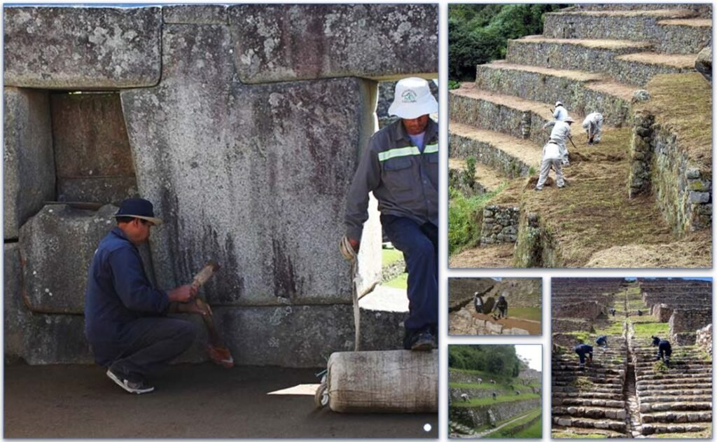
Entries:
{"type": "Polygon", "coordinates": [[[44,89],[156,85],[161,9],[4,8],[5,84],[44,89]]]}

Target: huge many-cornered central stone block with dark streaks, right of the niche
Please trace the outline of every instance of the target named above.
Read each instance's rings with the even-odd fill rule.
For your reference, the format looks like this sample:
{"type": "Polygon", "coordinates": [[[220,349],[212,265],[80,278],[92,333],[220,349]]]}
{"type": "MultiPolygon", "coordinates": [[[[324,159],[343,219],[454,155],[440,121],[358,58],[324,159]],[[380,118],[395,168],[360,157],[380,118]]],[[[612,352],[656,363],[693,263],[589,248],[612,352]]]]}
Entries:
{"type": "MultiPolygon", "coordinates": [[[[166,221],[153,234],[158,281],[191,281],[212,258],[212,304],[350,302],[338,242],[376,83],[241,85],[229,49],[226,27],[166,24],[161,85],[122,93],[140,193],[166,221]]],[[[367,227],[365,283],[379,241],[367,227]]]]}

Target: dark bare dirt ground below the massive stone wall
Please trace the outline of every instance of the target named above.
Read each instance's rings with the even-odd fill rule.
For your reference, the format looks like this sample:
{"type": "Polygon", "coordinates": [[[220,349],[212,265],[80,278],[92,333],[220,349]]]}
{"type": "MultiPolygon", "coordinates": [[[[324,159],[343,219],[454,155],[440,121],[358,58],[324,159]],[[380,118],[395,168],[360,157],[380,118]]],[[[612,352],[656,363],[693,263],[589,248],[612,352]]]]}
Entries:
{"type": "Polygon", "coordinates": [[[174,365],[130,395],[89,365],[4,367],[4,438],[438,438],[437,414],[340,414],[310,395],[310,369],[174,365]],[[431,425],[424,431],[424,425],[431,425]]]}

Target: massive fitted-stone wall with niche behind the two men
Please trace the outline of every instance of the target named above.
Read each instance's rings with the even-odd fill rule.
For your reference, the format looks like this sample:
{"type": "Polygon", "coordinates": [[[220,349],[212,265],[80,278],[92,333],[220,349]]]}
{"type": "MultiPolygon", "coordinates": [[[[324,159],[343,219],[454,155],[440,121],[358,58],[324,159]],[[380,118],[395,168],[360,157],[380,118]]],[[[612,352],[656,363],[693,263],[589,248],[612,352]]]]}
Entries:
{"type": "MultiPolygon", "coordinates": [[[[237,363],[353,349],[346,191],[378,81],[437,77],[436,5],[4,12],[6,360],[92,361],[87,265],[134,195],[165,220],[144,250],[159,287],[221,265],[202,291],[237,363]]],[[[367,285],[380,237],[372,202],[367,285]]],[[[362,348],[397,347],[402,315],[369,313],[362,348]]],[[[206,359],[201,339],[186,360],[206,359]]]]}

